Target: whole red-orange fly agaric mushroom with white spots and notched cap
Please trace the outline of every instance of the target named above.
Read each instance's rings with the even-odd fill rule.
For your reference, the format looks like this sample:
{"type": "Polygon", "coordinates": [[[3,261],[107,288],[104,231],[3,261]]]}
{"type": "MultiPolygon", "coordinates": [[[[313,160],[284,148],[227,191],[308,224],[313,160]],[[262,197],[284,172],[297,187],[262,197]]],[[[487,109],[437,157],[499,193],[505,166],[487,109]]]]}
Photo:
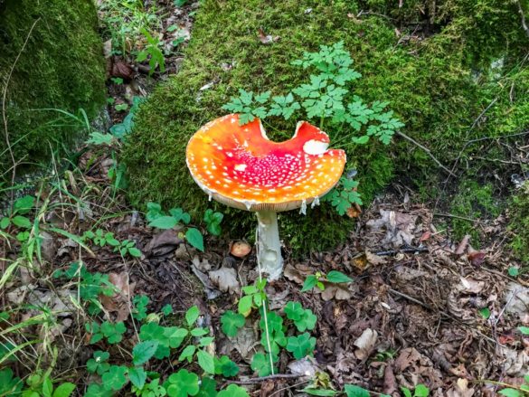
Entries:
{"type": "Polygon", "coordinates": [[[307,121],[291,139],[272,142],[259,118],[240,126],[237,114],[207,123],[187,144],[187,166],[210,200],[257,213],[258,260],[270,280],[283,269],[277,213],[305,213],[344,172],[345,152],[328,145],[326,133],[307,121]]]}

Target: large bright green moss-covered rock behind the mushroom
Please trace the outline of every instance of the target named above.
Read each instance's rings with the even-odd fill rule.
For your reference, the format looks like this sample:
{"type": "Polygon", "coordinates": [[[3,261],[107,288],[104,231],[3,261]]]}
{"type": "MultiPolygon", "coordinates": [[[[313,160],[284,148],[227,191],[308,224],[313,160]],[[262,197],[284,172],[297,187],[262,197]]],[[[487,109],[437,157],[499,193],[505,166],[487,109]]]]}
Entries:
{"type": "MultiPolygon", "coordinates": [[[[182,205],[201,216],[211,204],[185,167],[184,147],[189,137],[207,121],[221,116],[222,105],[240,88],[271,90],[274,95],[295,88],[307,80],[307,71],[290,62],[304,51],[340,40],[352,53],[354,68],[363,74],[355,81],[354,93],[366,101],[390,100],[392,109],[406,123],[403,131],[430,147],[441,161],[455,158],[468,138],[502,135],[518,128],[517,119],[501,130],[481,125],[470,128],[494,95],[504,98],[508,94],[503,86],[497,87],[498,79],[488,66],[503,57],[501,73],[514,67],[527,42],[515,5],[496,0],[416,0],[404,2],[406,8],[400,10],[396,3],[204,1],[182,71],[156,90],[137,115],[123,157],[128,163],[133,202],[182,205]],[[425,13],[425,5],[435,8],[425,13]],[[370,9],[371,14],[365,13],[370,9]],[[360,10],[364,14],[358,16],[360,10]],[[382,13],[386,17],[376,15],[382,13]],[[279,40],[260,43],[259,29],[279,36],[279,40]],[[212,82],[213,87],[201,90],[212,82]]],[[[491,110],[498,117],[513,107],[504,99],[496,103],[491,110]]],[[[284,132],[272,132],[272,137],[288,137],[296,122],[278,120],[273,127],[284,132]]],[[[271,132],[270,126],[265,127],[271,132]]],[[[396,167],[420,184],[439,174],[430,157],[409,142],[398,141],[389,149],[382,145],[355,147],[347,141],[352,131],[327,132],[331,142],[345,139],[342,147],[347,151],[347,167],[358,169],[359,190],[368,199],[392,179],[396,167]]],[[[467,152],[463,158],[466,156],[467,152]]],[[[233,236],[252,230],[250,215],[222,211],[230,215],[225,224],[230,225],[233,236]]],[[[307,217],[288,213],[282,218],[282,236],[295,250],[328,247],[347,233],[348,222],[325,205],[307,217]]]]}

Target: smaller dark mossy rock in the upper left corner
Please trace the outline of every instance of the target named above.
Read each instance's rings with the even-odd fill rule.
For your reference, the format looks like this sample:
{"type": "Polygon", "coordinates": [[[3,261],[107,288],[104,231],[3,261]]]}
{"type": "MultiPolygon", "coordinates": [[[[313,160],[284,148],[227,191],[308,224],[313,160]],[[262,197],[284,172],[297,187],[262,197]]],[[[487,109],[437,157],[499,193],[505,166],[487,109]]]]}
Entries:
{"type": "MultiPolygon", "coordinates": [[[[50,150],[64,147],[79,129],[71,126],[71,119],[49,109],[71,113],[84,109],[94,116],[104,103],[105,65],[94,2],[1,2],[0,52],[0,88],[3,92],[8,82],[5,104],[14,157],[23,164],[37,163],[50,150]]],[[[11,166],[11,158],[4,123],[0,130],[0,169],[4,170],[11,166]]]]}

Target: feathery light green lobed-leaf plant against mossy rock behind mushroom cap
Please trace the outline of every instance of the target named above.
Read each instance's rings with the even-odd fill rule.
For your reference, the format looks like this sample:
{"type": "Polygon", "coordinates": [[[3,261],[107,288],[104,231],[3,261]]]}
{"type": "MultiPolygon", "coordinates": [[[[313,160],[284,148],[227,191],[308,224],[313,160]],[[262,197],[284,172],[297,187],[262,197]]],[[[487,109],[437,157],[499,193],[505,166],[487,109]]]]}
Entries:
{"type": "MultiPolygon", "coordinates": [[[[356,145],[365,145],[372,138],[389,145],[395,131],[404,126],[392,110],[386,109],[389,102],[375,100],[368,104],[354,94],[351,83],[362,75],[352,68],[353,60],[343,42],[322,45],[319,52],[305,52],[301,60],[292,64],[314,72],[307,83],[284,96],[240,89],[239,96],[231,98],[222,109],[239,113],[241,125],[254,118],[275,116],[288,120],[295,116],[319,124],[320,129],[326,123],[336,129],[352,128],[356,134],[350,143],[356,145]]],[[[342,182],[326,195],[326,201],[341,215],[354,203],[362,204],[356,186],[353,190],[347,181],[342,182]]]]}

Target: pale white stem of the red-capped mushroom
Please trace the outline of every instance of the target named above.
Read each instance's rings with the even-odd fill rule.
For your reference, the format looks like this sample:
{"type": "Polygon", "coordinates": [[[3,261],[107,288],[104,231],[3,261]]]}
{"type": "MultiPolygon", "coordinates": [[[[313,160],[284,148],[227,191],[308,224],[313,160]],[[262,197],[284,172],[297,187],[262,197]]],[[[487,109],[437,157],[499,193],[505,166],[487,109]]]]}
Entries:
{"type": "Polygon", "coordinates": [[[260,270],[269,274],[269,280],[279,279],[283,271],[283,258],[279,242],[278,214],[273,211],[258,211],[257,220],[260,270]]]}

